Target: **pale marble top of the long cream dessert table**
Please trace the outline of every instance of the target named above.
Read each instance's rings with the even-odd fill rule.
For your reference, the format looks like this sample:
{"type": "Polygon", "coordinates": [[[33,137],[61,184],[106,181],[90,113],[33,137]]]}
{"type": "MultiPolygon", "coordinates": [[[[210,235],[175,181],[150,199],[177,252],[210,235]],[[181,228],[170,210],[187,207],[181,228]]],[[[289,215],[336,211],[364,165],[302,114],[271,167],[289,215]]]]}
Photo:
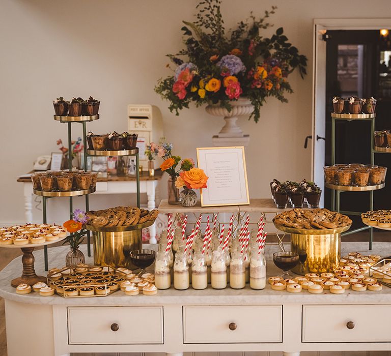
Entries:
{"type": "MultiPolygon", "coordinates": [[[[148,248],[155,248],[156,245],[147,245],[148,248]]],[[[87,247],[82,245],[82,251],[87,256],[87,247]]],[[[389,243],[374,243],[373,250],[368,251],[367,242],[342,243],[341,254],[345,255],[348,252],[360,252],[361,254],[379,254],[388,256],[391,254],[391,244],[389,243]]],[[[266,247],[267,259],[267,276],[277,276],[281,271],[274,265],[271,255],[278,250],[276,245],[268,245],[266,247]]],[[[49,268],[61,268],[65,262],[65,255],[69,251],[69,247],[54,247],[48,251],[49,268]]],[[[37,275],[46,276],[43,266],[43,251],[35,251],[35,270],[37,275]]],[[[86,263],[93,264],[93,259],[86,257],[86,263]]],[[[32,292],[26,295],[16,294],[15,288],[11,287],[10,281],[21,275],[21,257],[11,261],[3,271],[0,272],[0,296],[4,299],[12,300],[20,303],[40,304],[40,305],[248,305],[248,304],[391,304],[391,288],[383,286],[383,290],[379,292],[365,291],[356,292],[348,289],[344,294],[331,294],[329,291],[324,291],[322,294],[311,294],[306,290],[301,293],[289,293],[287,291],[275,291],[266,284],[263,290],[253,290],[248,285],[244,289],[212,289],[210,285],[204,290],[176,290],[174,287],[166,290],[159,290],[156,295],[128,296],[122,291],[117,291],[113,294],[104,297],[90,298],[63,298],[59,295],[40,296],[39,293],[32,292]]]]}

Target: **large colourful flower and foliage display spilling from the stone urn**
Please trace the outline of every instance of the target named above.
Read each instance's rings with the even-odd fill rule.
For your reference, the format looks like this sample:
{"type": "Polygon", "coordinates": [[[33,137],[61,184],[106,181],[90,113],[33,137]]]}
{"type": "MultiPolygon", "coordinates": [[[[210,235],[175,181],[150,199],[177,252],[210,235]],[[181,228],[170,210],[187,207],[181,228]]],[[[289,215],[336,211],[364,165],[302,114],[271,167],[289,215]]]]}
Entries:
{"type": "Polygon", "coordinates": [[[250,22],[240,21],[226,32],[220,3],[204,0],[197,6],[196,21],[183,21],[185,49],[167,54],[176,68],[173,75],[159,79],[155,91],[177,115],[190,102],[219,103],[230,111],[230,100],[246,97],[254,106],[250,117],[258,122],[267,97],[288,101],[284,94],[293,90],[287,77],[295,68],[303,77],[307,58],[288,42],[283,27],[271,38],[260,35],[260,29],[272,26],[267,18],[276,7],[260,19],[251,13],[250,22]]]}

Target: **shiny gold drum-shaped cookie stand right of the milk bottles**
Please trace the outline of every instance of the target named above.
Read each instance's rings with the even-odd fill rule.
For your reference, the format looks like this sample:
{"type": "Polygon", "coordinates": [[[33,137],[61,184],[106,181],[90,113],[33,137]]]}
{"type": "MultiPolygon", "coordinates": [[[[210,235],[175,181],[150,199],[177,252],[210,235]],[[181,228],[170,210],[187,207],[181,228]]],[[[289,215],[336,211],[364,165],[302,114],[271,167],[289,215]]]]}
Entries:
{"type": "Polygon", "coordinates": [[[340,265],[341,233],[351,225],[335,229],[295,229],[274,223],[281,231],[291,234],[291,251],[306,254],[303,263],[292,269],[298,275],[306,273],[333,272],[340,265]]]}

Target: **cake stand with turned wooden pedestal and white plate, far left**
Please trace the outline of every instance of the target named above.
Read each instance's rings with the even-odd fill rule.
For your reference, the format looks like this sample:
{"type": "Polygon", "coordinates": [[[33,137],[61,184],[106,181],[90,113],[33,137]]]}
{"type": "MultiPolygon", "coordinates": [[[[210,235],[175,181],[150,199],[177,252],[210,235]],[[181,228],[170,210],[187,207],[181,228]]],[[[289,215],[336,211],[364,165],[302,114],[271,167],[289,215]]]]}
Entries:
{"type": "Polygon", "coordinates": [[[44,282],[46,283],[46,277],[43,276],[37,276],[34,269],[34,255],[33,251],[36,247],[45,246],[45,245],[51,245],[55,244],[56,242],[60,242],[64,239],[66,239],[67,236],[64,236],[63,238],[59,238],[55,241],[46,241],[42,244],[27,244],[27,245],[0,245],[0,247],[4,248],[20,248],[23,252],[22,256],[22,264],[23,264],[23,270],[22,275],[18,278],[15,278],[11,281],[11,286],[17,287],[19,284],[24,283],[28,285],[34,285],[37,282],[44,282]]]}

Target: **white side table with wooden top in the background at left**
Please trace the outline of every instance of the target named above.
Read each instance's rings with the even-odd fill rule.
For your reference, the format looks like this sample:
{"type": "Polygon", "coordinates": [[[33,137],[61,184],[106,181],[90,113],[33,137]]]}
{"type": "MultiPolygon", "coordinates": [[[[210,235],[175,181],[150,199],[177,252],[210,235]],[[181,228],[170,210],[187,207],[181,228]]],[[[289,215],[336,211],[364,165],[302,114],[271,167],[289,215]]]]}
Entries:
{"type": "MultiPolygon", "coordinates": [[[[150,177],[148,172],[140,174],[140,193],[147,194],[148,210],[155,209],[156,207],[156,187],[161,177],[161,170],[155,170],[153,177],[150,177]]],[[[23,183],[25,221],[31,222],[33,221],[33,183],[30,177],[20,177],[17,182],[23,183]]],[[[120,177],[117,175],[99,177],[94,194],[136,194],[136,179],[135,177],[120,177]]],[[[155,239],[156,226],[152,225],[149,230],[151,237],[155,239]]],[[[156,242],[156,240],[152,242],[156,242]]]]}

